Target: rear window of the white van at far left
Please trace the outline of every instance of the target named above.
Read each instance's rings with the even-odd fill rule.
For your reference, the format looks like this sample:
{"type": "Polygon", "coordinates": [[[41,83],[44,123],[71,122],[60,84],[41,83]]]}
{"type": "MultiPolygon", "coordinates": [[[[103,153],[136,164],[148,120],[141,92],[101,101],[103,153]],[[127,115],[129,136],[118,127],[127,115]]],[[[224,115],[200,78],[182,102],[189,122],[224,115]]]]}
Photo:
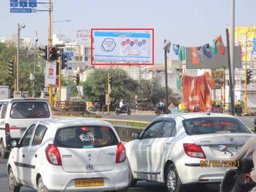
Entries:
{"type": "Polygon", "coordinates": [[[49,118],[50,111],[46,102],[13,102],[10,110],[12,119],[49,118]]]}

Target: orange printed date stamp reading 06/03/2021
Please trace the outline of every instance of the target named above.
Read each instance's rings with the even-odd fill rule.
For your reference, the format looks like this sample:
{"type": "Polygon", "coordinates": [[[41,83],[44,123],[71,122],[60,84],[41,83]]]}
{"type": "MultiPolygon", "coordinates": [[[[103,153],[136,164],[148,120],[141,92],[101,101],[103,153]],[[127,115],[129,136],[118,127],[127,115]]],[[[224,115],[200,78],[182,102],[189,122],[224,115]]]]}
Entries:
{"type": "Polygon", "coordinates": [[[231,160],[201,160],[200,167],[239,167],[239,161],[231,160]]]}

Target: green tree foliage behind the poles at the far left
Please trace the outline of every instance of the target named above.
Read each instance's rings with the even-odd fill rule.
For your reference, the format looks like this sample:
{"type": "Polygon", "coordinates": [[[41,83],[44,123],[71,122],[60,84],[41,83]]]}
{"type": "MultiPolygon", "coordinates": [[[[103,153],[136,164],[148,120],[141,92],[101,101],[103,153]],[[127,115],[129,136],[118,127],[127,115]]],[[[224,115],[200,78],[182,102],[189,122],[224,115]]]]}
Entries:
{"type": "MultiPolygon", "coordinates": [[[[9,86],[12,90],[14,88],[14,78],[8,74],[8,61],[14,60],[16,56],[17,44],[16,40],[9,40],[0,43],[0,86],[9,86]]],[[[29,79],[30,73],[33,73],[34,50],[29,48],[24,43],[20,43],[19,56],[19,91],[29,91],[30,96],[33,91],[33,82],[29,79]]],[[[35,96],[40,95],[40,91],[44,87],[44,68],[45,61],[39,58],[37,53],[35,66],[35,96]]]]}

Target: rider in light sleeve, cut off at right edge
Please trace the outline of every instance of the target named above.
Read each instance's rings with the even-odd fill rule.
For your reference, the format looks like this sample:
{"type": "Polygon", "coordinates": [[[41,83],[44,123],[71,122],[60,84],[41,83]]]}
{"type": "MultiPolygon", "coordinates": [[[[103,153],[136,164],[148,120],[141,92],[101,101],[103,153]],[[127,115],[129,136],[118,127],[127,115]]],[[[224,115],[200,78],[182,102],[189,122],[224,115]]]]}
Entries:
{"type": "MultiPolygon", "coordinates": [[[[256,136],[252,136],[250,139],[248,139],[245,145],[239,150],[239,152],[231,156],[229,160],[240,161],[242,159],[247,158],[250,155],[252,155],[252,159],[254,163],[254,168],[251,171],[250,175],[252,180],[256,182],[256,136]]],[[[237,175],[235,192],[245,191],[245,175],[246,173],[237,175]]]]}

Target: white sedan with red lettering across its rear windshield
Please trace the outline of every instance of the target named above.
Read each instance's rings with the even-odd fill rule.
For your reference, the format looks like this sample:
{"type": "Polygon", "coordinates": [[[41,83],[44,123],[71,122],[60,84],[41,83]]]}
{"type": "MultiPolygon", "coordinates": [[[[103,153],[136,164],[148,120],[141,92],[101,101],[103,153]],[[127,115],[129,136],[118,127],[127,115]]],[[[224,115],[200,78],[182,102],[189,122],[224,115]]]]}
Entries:
{"type": "MultiPolygon", "coordinates": [[[[231,155],[255,134],[238,118],[226,114],[184,113],[156,118],[136,140],[125,145],[130,186],[137,180],[165,183],[168,192],[181,192],[187,184],[221,183],[231,155]],[[210,161],[212,160],[212,161],[210,161]]],[[[235,165],[234,165],[235,167],[235,165]]]]}

